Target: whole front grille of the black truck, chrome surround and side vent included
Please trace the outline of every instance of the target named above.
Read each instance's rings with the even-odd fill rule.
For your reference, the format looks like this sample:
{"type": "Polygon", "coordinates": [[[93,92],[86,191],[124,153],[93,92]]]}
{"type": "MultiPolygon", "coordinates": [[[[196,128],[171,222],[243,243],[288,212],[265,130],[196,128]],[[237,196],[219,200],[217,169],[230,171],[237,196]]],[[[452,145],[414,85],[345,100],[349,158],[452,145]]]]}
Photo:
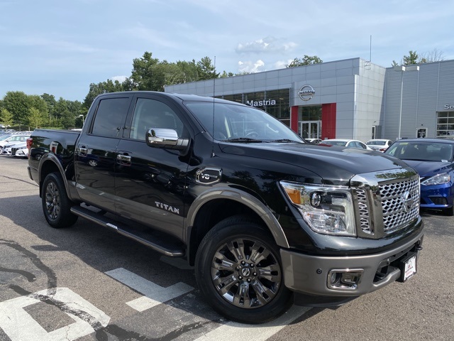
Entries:
{"type": "Polygon", "coordinates": [[[351,184],[360,237],[384,237],[419,216],[419,176],[411,168],[356,175],[351,184]]]}

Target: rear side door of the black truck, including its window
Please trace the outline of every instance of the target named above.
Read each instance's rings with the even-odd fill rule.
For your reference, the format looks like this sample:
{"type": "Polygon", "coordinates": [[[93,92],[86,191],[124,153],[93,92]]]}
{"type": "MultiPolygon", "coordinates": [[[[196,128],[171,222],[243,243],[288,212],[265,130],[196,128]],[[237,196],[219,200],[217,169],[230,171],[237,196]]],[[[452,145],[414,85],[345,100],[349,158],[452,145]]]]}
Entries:
{"type": "Polygon", "coordinates": [[[98,99],[76,146],[74,170],[79,197],[111,212],[115,211],[116,146],[132,98],[132,94],[125,94],[98,99]]]}

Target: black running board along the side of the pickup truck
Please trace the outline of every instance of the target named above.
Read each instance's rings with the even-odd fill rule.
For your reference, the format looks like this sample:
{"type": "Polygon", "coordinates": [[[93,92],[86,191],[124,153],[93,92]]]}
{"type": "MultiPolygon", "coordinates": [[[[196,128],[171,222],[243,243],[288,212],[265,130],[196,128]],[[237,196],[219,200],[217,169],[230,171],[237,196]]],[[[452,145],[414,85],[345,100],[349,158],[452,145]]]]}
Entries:
{"type": "MultiPolygon", "coordinates": [[[[104,214],[88,210],[81,206],[71,207],[71,212],[74,215],[78,215],[84,219],[94,222],[109,229],[114,229],[119,234],[123,234],[128,238],[135,240],[141,244],[144,244],[150,249],[153,249],[161,254],[165,254],[170,257],[182,257],[184,256],[184,247],[182,243],[177,241],[172,242],[171,237],[161,232],[154,232],[151,229],[140,230],[134,229],[128,224],[118,222],[116,220],[106,217],[104,214]]],[[[102,212],[102,211],[101,211],[102,212]]]]}

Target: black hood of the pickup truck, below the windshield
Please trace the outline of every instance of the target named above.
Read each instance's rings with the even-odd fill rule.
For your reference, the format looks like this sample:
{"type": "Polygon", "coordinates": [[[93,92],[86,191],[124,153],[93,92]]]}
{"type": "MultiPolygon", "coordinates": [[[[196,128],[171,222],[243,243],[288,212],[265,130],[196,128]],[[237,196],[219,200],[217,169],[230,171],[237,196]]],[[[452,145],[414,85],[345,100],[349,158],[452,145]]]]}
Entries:
{"type": "Polygon", "coordinates": [[[224,153],[263,158],[307,169],[325,183],[348,185],[357,174],[396,170],[408,165],[384,153],[339,146],[318,146],[298,143],[260,143],[219,145],[224,153]]]}

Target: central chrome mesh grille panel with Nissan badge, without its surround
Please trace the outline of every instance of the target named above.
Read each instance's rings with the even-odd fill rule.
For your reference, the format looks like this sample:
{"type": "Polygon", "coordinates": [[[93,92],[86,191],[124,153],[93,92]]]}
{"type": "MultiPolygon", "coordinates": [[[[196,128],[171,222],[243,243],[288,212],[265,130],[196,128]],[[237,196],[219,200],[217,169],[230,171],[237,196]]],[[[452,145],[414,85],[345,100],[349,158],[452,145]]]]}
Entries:
{"type": "Polygon", "coordinates": [[[382,198],[383,229],[392,232],[419,215],[419,179],[379,185],[382,198]]]}

